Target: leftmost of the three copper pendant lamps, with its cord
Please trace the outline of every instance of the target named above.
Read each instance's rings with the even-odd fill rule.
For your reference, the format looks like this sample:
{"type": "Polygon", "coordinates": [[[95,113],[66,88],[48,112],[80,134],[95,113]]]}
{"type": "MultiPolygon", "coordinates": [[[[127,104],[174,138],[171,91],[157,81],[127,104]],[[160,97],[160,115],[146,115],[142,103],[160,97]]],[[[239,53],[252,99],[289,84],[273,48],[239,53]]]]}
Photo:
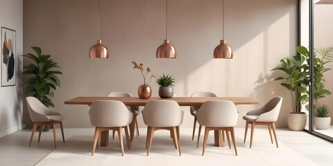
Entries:
{"type": "MultiPolygon", "coordinates": [[[[99,15],[101,14],[101,0],[99,0],[99,15]]],[[[99,19],[100,21],[100,19],[99,19]]],[[[92,46],[89,51],[90,58],[109,58],[109,50],[106,46],[102,44],[101,37],[99,35],[99,40],[97,44],[92,46]]]]}

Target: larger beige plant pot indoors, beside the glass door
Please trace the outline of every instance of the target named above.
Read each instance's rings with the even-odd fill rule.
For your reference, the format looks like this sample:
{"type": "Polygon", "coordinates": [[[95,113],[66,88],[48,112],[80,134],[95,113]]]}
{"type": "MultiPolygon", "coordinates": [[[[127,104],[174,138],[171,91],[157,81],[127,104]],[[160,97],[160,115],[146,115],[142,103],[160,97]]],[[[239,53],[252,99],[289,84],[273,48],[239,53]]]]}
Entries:
{"type": "Polygon", "coordinates": [[[305,128],[305,124],[307,124],[307,114],[289,113],[287,122],[291,131],[302,131],[305,128]]]}

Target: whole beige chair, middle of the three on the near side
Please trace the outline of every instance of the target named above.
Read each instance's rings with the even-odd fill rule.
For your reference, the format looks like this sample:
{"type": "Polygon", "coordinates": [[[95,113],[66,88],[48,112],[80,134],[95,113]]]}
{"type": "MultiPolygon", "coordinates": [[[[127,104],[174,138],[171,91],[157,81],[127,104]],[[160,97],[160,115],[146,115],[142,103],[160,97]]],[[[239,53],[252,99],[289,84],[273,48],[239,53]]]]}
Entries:
{"type": "Polygon", "coordinates": [[[179,155],[181,155],[179,126],[182,124],[184,112],[180,110],[178,103],[172,100],[151,100],[144,106],[142,116],[144,123],[148,126],[146,138],[147,156],[151,149],[154,131],[159,129],[166,129],[171,132],[173,145],[178,149],[179,155]]]}

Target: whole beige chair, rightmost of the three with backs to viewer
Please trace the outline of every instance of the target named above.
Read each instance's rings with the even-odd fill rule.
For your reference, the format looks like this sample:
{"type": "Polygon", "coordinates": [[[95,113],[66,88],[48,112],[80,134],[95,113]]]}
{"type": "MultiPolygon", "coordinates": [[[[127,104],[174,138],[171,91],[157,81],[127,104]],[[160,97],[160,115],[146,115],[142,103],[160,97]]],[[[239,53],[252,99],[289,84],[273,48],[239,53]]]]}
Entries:
{"type": "MultiPolygon", "coordinates": [[[[234,152],[237,156],[237,147],[234,140],[234,126],[237,124],[238,112],[233,102],[214,100],[203,103],[196,113],[199,127],[198,142],[200,139],[201,126],[205,126],[205,137],[203,138],[203,155],[205,154],[205,147],[207,144],[208,133],[210,130],[227,131],[227,138],[229,141],[229,132],[231,133],[232,144],[234,145],[234,152]]],[[[230,148],[230,144],[229,144],[230,148]]]]}

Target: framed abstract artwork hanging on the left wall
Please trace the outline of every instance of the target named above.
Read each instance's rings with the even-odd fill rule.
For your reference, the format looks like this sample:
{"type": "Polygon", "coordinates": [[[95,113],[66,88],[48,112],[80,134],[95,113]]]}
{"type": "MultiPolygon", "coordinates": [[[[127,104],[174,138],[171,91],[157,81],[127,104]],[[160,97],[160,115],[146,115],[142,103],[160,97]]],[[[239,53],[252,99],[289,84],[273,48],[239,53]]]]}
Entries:
{"type": "Polygon", "coordinates": [[[16,84],[16,31],[1,26],[1,86],[16,84]]]}

